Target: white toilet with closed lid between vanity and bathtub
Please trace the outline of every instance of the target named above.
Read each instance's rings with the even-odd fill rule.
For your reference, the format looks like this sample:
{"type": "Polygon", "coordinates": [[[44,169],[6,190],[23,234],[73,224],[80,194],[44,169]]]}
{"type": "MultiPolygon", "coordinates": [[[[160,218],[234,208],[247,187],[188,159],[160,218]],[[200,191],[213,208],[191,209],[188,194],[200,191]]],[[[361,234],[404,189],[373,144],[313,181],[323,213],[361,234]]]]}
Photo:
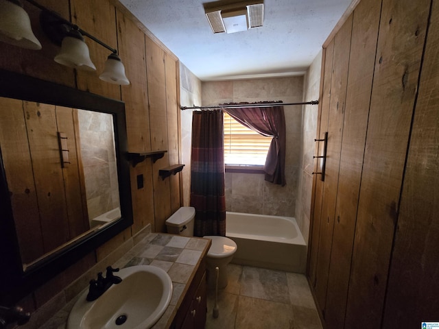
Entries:
{"type": "MultiPolygon", "coordinates": [[[[181,207],[166,220],[167,232],[182,236],[193,236],[195,221],[195,208],[181,207]]],[[[209,289],[215,288],[215,267],[219,268],[218,289],[227,285],[227,265],[237,250],[237,245],[232,239],[226,236],[206,235],[203,238],[211,239],[212,245],[207,252],[207,284],[209,289]]]]}

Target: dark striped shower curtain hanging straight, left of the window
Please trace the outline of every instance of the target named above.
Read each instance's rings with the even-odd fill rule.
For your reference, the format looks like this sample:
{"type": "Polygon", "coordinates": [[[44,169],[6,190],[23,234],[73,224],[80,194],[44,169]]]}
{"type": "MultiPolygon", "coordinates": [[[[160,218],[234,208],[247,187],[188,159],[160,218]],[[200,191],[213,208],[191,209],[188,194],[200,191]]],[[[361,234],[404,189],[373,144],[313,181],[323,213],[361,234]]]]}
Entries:
{"type": "Polygon", "coordinates": [[[195,236],[226,235],[223,122],[222,110],[193,112],[190,204],[195,236]]]}

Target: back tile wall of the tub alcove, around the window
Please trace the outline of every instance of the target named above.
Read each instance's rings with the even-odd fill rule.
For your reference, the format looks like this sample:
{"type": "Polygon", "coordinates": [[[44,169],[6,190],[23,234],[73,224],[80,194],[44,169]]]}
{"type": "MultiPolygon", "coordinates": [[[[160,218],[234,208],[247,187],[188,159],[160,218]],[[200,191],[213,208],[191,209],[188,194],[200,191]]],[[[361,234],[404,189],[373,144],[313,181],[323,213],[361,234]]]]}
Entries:
{"type": "MultiPolygon", "coordinates": [[[[203,106],[241,101],[302,101],[303,77],[202,82],[203,106]]],[[[263,174],[226,173],[226,210],[262,215],[295,215],[302,107],[285,106],[286,186],[265,182],[263,174]]]]}

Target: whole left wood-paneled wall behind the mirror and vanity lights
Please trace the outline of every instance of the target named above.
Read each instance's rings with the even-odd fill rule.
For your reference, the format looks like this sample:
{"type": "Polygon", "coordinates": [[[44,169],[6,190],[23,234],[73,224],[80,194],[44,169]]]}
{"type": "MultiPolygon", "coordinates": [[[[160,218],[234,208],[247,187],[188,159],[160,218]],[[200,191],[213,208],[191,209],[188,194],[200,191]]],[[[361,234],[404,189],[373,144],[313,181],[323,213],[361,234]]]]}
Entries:
{"type": "MultiPolygon", "coordinates": [[[[157,40],[137,19],[115,0],[38,0],[38,3],[71,19],[86,32],[118,49],[130,80],[129,86],[117,86],[99,80],[99,73],[110,51],[86,39],[97,72],[75,71],[54,62],[60,47],[53,45],[38,23],[40,10],[24,1],[32,27],[43,45],[31,51],[1,43],[0,67],[42,80],[56,82],[126,103],[128,149],[132,152],[167,150],[154,164],[150,158],[130,166],[134,224],[30,296],[35,308],[64,289],[66,282],[78,278],[93,263],[102,260],[115,247],[137,234],[147,224],[152,230],[165,230],[165,219],[180,207],[178,175],[163,180],[158,170],[179,162],[178,135],[179,70],[178,58],[157,40]],[[137,188],[138,175],[143,188],[137,188]],[[68,279],[67,279],[68,278],[68,279]]],[[[38,86],[36,86],[38,88],[38,86]]],[[[54,234],[55,231],[54,231],[54,234]]],[[[32,311],[32,310],[31,310],[32,311]]]]}

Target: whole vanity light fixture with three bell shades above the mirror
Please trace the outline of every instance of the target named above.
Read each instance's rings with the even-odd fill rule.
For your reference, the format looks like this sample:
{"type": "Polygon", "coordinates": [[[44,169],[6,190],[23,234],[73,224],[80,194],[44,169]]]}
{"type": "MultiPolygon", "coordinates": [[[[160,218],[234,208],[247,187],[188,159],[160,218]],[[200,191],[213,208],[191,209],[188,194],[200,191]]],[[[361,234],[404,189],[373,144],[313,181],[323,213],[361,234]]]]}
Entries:
{"type": "MultiPolygon", "coordinates": [[[[43,32],[52,42],[61,45],[60,53],[54,58],[55,62],[78,70],[96,71],[84,42],[83,36],[86,36],[112,52],[99,78],[112,84],[130,84],[116,49],[36,1],[25,1],[42,10],[40,25],[43,32]]],[[[27,49],[41,49],[40,42],[32,32],[29,16],[19,0],[0,0],[0,41],[27,49]]]]}

